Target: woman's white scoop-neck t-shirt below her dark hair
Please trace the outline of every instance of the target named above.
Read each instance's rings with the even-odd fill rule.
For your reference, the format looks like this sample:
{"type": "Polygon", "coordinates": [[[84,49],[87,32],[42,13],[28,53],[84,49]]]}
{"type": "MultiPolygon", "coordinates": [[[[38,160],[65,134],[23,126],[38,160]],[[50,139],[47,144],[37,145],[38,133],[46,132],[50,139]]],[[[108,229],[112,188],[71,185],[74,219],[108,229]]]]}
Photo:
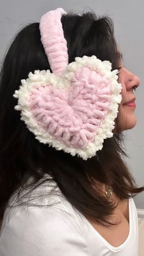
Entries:
{"type": "MultiPolygon", "coordinates": [[[[53,185],[44,183],[32,192],[30,199],[39,207],[7,207],[0,231],[1,256],[139,255],[138,217],[132,198],[129,199],[128,238],[113,247],[65,199],[59,188],[48,196],[53,185]]],[[[14,197],[11,202],[15,202],[14,197]]]]}

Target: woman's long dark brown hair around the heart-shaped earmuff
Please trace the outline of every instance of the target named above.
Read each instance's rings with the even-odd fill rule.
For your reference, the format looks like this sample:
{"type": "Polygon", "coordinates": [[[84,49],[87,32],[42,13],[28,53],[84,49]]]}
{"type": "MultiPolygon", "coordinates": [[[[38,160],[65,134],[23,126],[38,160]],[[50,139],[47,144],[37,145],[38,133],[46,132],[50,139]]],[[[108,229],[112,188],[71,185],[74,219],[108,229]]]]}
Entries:
{"type": "MultiPolygon", "coordinates": [[[[69,63],[77,56],[95,55],[112,62],[113,69],[118,67],[120,54],[110,18],[97,17],[92,12],[81,16],[68,13],[62,16],[62,26],[69,63]]],[[[123,161],[126,153],[120,120],[115,120],[117,131],[113,137],[105,139],[103,149],[87,161],[40,144],[20,120],[20,112],[14,110],[16,99],[13,93],[30,71],[48,69],[49,62],[40,41],[39,23],[29,24],[16,35],[1,68],[0,216],[2,218],[16,189],[23,190],[32,178],[28,187],[31,192],[40,186],[41,178],[48,174],[67,200],[86,218],[109,224],[107,218],[113,213],[114,207],[99,192],[99,182],[112,186],[113,192],[121,200],[144,190],[144,187],[137,187],[123,161]]]]}

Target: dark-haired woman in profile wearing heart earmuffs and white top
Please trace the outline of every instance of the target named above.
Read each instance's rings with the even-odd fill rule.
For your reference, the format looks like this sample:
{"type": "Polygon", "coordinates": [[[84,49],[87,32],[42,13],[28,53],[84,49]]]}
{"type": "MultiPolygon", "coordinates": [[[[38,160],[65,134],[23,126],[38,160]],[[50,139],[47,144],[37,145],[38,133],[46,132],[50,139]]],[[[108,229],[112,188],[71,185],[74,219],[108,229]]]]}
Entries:
{"type": "Polygon", "coordinates": [[[57,9],[16,35],[1,70],[1,256],[138,255],[144,188],[121,142],[139,83],[106,16],[57,9]]]}

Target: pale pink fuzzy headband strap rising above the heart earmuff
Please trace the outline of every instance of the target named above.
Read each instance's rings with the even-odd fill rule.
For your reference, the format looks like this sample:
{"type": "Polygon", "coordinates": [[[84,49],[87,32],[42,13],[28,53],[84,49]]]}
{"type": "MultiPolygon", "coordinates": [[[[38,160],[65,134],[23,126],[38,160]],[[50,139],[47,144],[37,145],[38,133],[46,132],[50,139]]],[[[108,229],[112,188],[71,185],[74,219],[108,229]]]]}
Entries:
{"type": "Polygon", "coordinates": [[[66,12],[62,8],[51,10],[41,17],[40,34],[41,43],[45,49],[46,56],[52,73],[60,76],[68,66],[67,41],[63,35],[61,23],[62,15],[66,12]]]}

